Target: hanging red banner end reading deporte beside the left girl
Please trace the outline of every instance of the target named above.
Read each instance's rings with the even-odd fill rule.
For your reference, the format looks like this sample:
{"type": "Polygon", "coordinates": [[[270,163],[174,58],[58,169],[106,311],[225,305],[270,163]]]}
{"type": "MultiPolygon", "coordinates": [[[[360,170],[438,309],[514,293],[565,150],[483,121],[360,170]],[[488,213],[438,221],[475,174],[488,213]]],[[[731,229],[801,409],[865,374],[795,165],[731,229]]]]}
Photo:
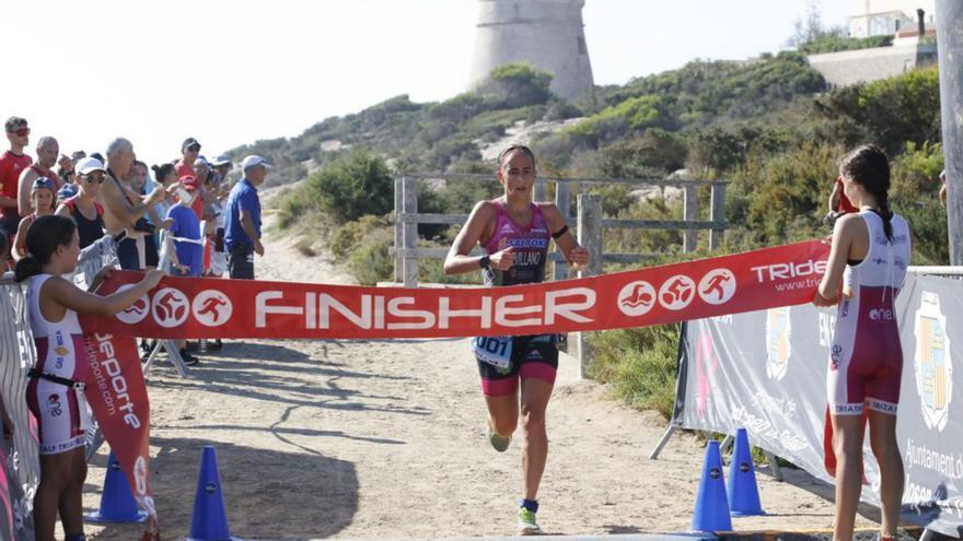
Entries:
{"type": "MultiPolygon", "coordinates": [[[[97,294],[113,293],[118,285],[105,283],[97,294]]],[[[85,325],[82,327],[90,362],[88,403],[127,477],[134,498],[150,515],[142,539],[160,539],[150,491],[150,402],[137,341],[131,336],[90,332],[85,325]]]]}

